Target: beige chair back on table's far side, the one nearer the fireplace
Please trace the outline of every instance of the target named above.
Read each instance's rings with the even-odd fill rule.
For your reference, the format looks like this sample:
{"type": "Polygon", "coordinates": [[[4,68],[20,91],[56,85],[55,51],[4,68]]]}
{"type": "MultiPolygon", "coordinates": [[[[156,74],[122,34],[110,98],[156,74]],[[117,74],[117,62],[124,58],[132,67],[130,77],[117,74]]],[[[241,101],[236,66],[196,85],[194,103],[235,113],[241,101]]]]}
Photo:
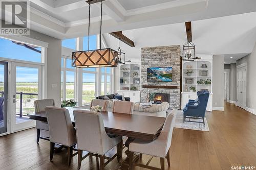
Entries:
{"type": "Polygon", "coordinates": [[[125,101],[115,101],[113,105],[113,112],[133,114],[134,103],[125,101]]]}

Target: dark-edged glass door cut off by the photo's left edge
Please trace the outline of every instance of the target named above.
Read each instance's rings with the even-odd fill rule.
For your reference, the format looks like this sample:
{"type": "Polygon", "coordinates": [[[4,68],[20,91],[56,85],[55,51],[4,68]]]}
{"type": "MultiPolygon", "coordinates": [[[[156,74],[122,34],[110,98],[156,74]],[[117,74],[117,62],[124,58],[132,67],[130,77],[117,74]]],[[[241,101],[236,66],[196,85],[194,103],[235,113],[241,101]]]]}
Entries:
{"type": "Polygon", "coordinates": [[[8,62],[0,61],[0,135],[7,132],[8,62]]]}

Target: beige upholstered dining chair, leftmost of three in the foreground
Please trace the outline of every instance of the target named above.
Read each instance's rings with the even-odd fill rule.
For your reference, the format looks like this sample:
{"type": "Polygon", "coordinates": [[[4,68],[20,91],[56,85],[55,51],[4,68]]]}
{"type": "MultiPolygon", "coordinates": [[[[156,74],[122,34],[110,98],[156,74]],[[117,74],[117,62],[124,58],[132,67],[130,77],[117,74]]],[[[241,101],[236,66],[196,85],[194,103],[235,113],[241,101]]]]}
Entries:
{"type": "Polygon", "coordinates": [[[70,165],[73,154],[73,146],[76,144],[76,132],[69,111],[65,108],[48,106],[46,109],[47,121],[50,130],[50,160],[53,159],[55,143],[68,147],[68,163],[70,165]]]}

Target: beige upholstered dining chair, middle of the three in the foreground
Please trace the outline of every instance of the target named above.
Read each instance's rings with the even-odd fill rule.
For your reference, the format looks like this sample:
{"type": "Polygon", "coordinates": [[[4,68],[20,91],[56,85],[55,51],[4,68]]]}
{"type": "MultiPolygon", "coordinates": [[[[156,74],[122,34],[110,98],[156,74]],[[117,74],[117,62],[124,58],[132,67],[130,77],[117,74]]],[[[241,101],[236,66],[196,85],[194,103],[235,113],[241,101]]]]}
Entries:
{"type": "Polygon", "coordinates": [[[118,160],[121,158],[121,137],[109,137],[105,132],[102,115],[99,112],[89,110],[74,110],[77,149],[78,149],[78,166],[80,169],[81,162],[88,155],[100,157],[100,170],[108,164],[114,157],[118,160]],[[117,154],[108,161],[104,161],[105,153],[117,146],[117,154]],[[87,151],[89,154],[82,157],[82,151],[87,151]]]}

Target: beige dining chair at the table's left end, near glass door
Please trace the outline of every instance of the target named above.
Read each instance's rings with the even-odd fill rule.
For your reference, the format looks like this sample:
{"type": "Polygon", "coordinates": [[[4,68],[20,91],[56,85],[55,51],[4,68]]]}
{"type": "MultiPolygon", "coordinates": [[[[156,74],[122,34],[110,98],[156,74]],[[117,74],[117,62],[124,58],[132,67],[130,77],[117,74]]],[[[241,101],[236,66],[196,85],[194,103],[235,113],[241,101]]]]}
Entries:
{"type": "MultiPolygon", "coordinates": [[[[55,106],[53,99],[36,100],[34,101],[34,105],[35,105],[35,112],[45,111],[45,107],[47,106],[55,106]]],[[[45,130],[49,132],[48,123],[36,120],[36,142],[37,143],[39,142],[39,138],[49,140],[48,138],[40,137],[41,130],[45,130]]]]}

